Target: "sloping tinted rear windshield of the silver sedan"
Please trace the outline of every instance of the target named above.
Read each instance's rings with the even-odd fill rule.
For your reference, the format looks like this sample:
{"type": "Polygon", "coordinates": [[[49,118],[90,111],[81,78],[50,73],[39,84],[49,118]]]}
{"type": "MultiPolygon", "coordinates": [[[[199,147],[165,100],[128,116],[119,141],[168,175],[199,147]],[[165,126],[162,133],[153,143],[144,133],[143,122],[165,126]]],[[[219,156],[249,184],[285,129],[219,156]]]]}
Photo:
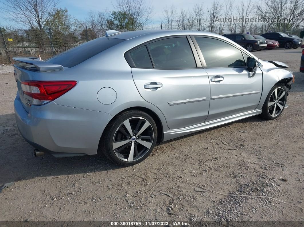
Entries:
{"type": "Polygon", "coordinates": [[[71,68],[123,41],[117,38],[96,38],[55,55],[46,62],[71,68]]]}

